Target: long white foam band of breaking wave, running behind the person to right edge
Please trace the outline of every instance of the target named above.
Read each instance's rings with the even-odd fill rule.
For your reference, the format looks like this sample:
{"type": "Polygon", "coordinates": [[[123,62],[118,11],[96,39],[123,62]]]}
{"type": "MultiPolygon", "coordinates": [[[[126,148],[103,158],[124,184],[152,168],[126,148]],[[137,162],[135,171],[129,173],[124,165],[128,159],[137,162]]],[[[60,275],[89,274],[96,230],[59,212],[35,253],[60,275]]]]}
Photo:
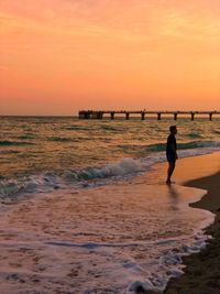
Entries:
{"type": "MultiPolygon", "coordinates": [[[[179,150],[178,157],[204,155],[219,150],[220,146],[213,142],[212,146],[208,148],[179,150]]],[[[164,152],[156,152],[139,159],[122,159],[100,167],[90,166],[78,171],[68,170],[62,174],[46,172],[18,179],[0,179],[0,198],[13,198],[24,193],[67,188],[69,185],[78,189],[105,185],[114,181],[125,181],[128,177],[147,172],[153,164],[164,161],[166,161],[164,152]]]]}

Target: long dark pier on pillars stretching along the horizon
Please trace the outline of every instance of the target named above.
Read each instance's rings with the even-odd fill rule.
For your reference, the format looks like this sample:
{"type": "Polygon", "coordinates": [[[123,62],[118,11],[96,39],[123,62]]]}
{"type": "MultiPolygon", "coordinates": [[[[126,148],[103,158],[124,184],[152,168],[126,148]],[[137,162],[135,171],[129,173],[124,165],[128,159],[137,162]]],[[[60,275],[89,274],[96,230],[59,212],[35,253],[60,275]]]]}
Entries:
{"type": "Polygon", "coordinates": [[[155,115],[157,120],[162,119],[162,116],[172,116],[174,120],[177,120],[178,116],[189,116],[194,121],[196,116],[207,116],[211,121],[213,116],[220,115],[220,111],[147,111],[147,110],[80,110],[78,113],[79,119],[103,119],[109,117],[111,120],[116,118],[117,115],[123,115],[124,119],[129,120],[132,115],[140,115],[141,120],[145,120],[147,116],[155,115]]]}

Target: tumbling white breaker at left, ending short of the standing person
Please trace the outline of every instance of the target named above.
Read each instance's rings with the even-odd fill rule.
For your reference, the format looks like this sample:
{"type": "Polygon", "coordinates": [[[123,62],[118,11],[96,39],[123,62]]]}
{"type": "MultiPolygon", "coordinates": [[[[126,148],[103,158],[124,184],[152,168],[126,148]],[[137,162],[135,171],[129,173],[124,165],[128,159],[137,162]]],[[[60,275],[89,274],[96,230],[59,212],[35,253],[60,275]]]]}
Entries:
{"type": "Polygon", "coordinates": [[[103,167],[87,167],[79,171],[65,171],[62,174],[52,172],[29,175],[18,179],[0,181],[0,198],[16,197],[26,193],[43,193],[52,189],[66,188],[74,184],[76,188],[86,187],[89,179],[108,179],[116,176],[132,175],[145,170],[142,162],[124,159],[120,162],[107,164],[103,167]]]}

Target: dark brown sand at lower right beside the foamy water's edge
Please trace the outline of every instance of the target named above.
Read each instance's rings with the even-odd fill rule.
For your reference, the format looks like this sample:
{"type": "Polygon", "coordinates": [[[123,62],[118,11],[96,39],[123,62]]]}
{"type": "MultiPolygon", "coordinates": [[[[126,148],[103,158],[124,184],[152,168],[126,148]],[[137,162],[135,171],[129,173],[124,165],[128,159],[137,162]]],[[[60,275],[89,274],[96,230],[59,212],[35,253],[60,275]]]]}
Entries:
{"type": "MultiPolygon", "coordinates": [[[[211,154],[219,156],[219,152],[211,154]]],[[[215,165],[215,162],[212,162],[215,165]]],[[[216,162],[218,168],[218,162],[216,162]]],[[[202,165],[202,163],[201,163],[202,165]]],[[[201,166],[202,170],[202,166],[201,166]]],[[[189,172],[190,173],[190,172],[189,172]]],[[[178,177],[179,174],[177,174],[178,177]]],[[[189,206],[206,209],[216,215],[215,222],[205,229],[206,235],[212,236],[207,246],[199,253],[183,258],[186,265],[184,274],[177,279],[172,277],[164,294],[219,294],[220,293],[220,172],[204,175],[182,184],[187,187],[202,188],[207,194],[189,206]]]]}

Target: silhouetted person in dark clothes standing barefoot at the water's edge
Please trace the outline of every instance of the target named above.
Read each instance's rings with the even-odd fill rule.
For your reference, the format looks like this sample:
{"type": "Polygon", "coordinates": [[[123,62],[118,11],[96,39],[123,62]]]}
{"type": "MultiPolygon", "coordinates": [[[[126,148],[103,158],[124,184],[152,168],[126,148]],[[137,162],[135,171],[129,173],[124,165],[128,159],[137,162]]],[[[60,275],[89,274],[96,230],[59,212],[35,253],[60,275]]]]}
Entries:
{"type": "Polygon", "coordinates": [[[166,184],[172,184],[172,175],[175,170],[176,160],[178,159],[176,153],[176,138],[175,134],[177,133],[176,126],[169,127],[169,135],[167,137],[166,143],[166,159],[168,162],[168,170],[167,170],[167,179],[166,184]]]}

